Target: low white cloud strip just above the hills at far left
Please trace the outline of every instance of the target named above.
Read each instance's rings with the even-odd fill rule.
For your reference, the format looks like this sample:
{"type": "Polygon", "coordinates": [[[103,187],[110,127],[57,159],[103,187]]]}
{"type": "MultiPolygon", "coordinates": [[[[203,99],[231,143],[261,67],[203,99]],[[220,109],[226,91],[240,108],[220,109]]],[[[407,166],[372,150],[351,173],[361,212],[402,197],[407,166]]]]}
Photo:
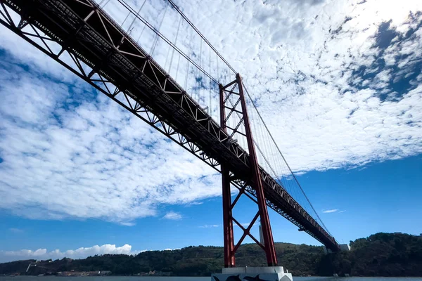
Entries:
{"type": "Polygon", "coordinates": [[[103,244],[101,246],[95,245],[92,247],[81,247],[75,250],[60,251],[59,249],[47,251],[47,249],[28,250],[22,249],[18,251],[0,251],[0,261],[15,261],[20,259],[63,259],[64,257],[70,259],[84,259],[87,256],[102,255],[102,254],[139,254],[141,251],[132,251],[132,246],[124,244],[121,247],[116,247],[115,244],[103,244]]]}

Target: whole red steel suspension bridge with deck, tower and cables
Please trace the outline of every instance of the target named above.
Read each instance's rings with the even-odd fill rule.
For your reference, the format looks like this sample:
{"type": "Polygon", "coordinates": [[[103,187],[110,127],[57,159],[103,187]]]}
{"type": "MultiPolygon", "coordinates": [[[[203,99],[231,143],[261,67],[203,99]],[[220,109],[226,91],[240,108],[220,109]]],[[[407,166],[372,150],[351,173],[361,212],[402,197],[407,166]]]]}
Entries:
{"type": "Polygon", "coordinates": [[[0,22],[222,174],[225,267],[236,265],[247,236],[264,249],[269,266],[277,264],[267,207],[339,251],[241,75],[172,0],[140,2],[0,0],[0,22]],[[258,206],[248,227],[232,212],[242,195],[258,206]],[[250,233],[258,218],[262,242],[250,233]],[[236,225],[243,235],[235,244],[236,225]]]}

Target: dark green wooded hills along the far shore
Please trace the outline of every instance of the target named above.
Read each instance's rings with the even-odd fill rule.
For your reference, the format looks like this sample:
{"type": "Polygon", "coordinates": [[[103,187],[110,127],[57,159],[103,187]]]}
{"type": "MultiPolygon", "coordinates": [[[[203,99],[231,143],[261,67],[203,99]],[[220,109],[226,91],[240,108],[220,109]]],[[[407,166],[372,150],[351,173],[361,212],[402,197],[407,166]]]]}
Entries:
{"type": "MultiPolygon", "coordinates": [[[[322,247],[276,243],[279,264],[295,276],[349,273],[353,276],[422,276],[422,237],[402,233],[377,233],[350,242],[352,251],[325,255],[322,247]]],[[[34,261],[32,261],[34,262],[34,261]]],[[[30,261],[0,264],[0,275],[25,274],[30,261]]],[[[256,244],[243,244],[237,266],[265,266],[256,244]]],[[[172,275],[209,276],[223,265],[222,247],[186,247],[174,251],[146,251],[136,256],[102,255],[87,259],[41,261],[28,274],[58,271],[111,270],[113,275],[136,275],[153,270],[172,275]]]]}

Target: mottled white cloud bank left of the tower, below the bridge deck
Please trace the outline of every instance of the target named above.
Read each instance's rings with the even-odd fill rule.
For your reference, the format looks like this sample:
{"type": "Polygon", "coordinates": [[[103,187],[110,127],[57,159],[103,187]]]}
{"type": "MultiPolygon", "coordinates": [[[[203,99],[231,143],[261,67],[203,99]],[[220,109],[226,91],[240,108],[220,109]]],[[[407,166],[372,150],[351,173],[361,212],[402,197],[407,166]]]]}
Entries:
{"type": "Polygon", "coordinates": [[[132,226],[159,204],[220,195],[215,171],[81,81],[58,83],[13,63],[0,70],[0,208],[132,226]]]}

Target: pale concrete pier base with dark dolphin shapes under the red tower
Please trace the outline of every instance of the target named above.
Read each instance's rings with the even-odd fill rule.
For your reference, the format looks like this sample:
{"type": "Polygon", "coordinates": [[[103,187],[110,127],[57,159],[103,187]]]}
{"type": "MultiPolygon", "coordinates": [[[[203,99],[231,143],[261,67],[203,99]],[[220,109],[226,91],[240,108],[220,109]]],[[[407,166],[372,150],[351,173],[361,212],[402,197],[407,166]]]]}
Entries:
{"type": "Polygon", "coordinates": [[[293,281],[283,266],[223,268],[222,273],[211,275],[211,281],[293,281]]]}

